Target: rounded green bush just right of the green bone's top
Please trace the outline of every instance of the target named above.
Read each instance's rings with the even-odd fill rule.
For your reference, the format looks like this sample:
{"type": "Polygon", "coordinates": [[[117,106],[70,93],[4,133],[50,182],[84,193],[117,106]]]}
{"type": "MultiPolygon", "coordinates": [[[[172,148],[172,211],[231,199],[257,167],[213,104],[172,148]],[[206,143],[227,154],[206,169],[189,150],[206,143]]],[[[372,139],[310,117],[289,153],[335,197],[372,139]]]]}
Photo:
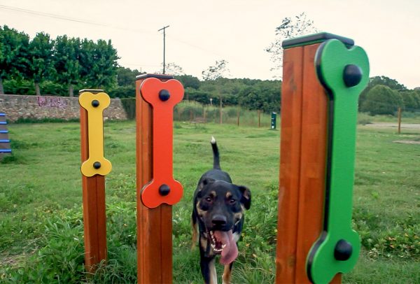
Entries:
{"type": "Polygon", "coordinates": [[[402,98],[398,92],[384,85],[372,87],[360,106],[360,111],[370,115],[394,115],[398,107],[402,106],[402,98]]]}

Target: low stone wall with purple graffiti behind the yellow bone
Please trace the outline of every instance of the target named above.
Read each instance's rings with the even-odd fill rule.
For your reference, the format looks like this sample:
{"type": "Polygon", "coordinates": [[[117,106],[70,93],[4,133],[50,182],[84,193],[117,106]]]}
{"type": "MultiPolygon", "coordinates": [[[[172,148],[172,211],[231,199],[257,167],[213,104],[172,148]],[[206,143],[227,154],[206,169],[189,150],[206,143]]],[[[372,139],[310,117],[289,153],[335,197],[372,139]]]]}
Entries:
{"type": "MultiPolygon", "coordinates": [[[[0,94],[0,113],[6,113],[8,122],[14,122],[19,118],[70,120],[79,118],[80,106],[77,97],[0,94]]],[[[111,104],[104,110],[104,119],[127,119],[120,99],[111,99],[111,104]]]]}

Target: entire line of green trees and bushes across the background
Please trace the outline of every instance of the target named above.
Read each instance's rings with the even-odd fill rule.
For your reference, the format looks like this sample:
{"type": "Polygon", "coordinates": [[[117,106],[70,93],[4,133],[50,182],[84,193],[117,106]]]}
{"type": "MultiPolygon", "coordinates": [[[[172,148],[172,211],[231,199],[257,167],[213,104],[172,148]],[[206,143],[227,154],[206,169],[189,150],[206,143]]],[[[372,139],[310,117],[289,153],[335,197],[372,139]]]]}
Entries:
{"type": "MultiPolygon", "coordinates": [[[[297,20],[302,21],[301,17],[304,15],[297,20]]],[[[290,19],[286,20],[290,25],[290,19]]],[[[288,29],[288,26],[280,28],[288,29]]],[[[281,57],[281,52],[277,53],[281,57]]],[[[119,66],[117,60],[117,50],[111,41],[94,42],[67,36],[52,39],[43,32],[30,40],[27,34],[3,26],[0,27],[0,94],[6,91],[72,97],[75,90],[92,88],[104,89],[110,97],[134,97],[136,76],[141,72],[119,66]]],[[[280,111],[281,80],[225,78],[228,71],[225,60],[216,61],[214,66],[202,71],[202,78],[184,73],[175,63],[167,64],[167,71],[183,83],[187,100],[280,111]]],[[[376,76],[370,78],[360,94],[359,110],[371,115],[394,115],[399,107],[420,112],[420,90],[408,90],[394,79],[376,76]]]]}

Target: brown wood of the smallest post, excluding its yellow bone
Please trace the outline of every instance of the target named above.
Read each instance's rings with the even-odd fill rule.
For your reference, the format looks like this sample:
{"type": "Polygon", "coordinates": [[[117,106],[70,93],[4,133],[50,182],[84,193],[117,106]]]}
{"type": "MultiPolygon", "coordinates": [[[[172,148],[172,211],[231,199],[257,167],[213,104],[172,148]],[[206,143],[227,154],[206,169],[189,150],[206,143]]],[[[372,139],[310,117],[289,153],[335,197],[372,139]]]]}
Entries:
{"type": "MultiPolygon", "coordinates": [[[[102,90],[80,90],[79,94],[90,92],[98,94],[102,90]]],[[[88,113],[80,106],[80,150],[82,162],[89,158],[88,113]]],[[[105,177],[99,174],[82,174],[83,190],[83,228],[85,241],[85,265],[89,272],[97,268],[99,262],[106,260],[106,214],[105,177]]]]}

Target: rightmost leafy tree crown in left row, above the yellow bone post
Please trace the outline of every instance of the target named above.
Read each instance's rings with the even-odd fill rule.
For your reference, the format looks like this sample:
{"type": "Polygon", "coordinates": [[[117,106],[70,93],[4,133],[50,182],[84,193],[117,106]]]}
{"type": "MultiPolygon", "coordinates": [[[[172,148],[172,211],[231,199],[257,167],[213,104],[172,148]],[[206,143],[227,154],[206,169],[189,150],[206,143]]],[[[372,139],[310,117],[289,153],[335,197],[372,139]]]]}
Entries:
{"type": "Polygon", "coordinates": [[[83,84],[92,89],[105,89],[116,85],[117,50],[111,41],[99,40],[97,43],[86,38],[81,43],[80,65],[83,84]]]}

